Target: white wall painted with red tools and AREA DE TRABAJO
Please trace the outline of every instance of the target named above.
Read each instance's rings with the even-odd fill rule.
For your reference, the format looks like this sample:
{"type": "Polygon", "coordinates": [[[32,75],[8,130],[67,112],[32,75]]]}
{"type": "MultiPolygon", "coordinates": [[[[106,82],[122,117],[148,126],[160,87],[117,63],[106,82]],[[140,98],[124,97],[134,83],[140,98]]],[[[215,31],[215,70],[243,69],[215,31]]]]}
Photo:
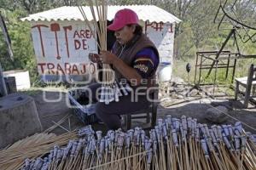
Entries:
{"type": "Polygon", "coordinates": [[[40,75],[69,76],[95,73],[95,65],[90,63],[88,54],[96,53],[96,41],[84,23],[34,23],[32,41],[40,75]],[[40,26],[40,31],[35,26],[40,26]]]}

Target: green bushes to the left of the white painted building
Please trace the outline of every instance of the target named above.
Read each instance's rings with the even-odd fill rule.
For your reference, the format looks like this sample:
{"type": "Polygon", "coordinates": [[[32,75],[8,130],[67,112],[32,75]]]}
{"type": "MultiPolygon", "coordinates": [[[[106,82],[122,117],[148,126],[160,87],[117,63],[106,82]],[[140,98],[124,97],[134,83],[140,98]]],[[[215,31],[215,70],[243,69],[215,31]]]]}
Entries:
{"type": "Polygon", "coordinates": [[[19,20],[24,16],[24,11],[15,10],[14,12],[5,11],[5,21],[7,23],[9,37],[12,42],[14,61],[9,58],[7,45],[0,33],[0,62],[4,71],[25,69],[30,72],[31,81],[37,77],[37,66],[33,52],[32,39],[30,37],[30,26],[26,22],[19,20]]]}

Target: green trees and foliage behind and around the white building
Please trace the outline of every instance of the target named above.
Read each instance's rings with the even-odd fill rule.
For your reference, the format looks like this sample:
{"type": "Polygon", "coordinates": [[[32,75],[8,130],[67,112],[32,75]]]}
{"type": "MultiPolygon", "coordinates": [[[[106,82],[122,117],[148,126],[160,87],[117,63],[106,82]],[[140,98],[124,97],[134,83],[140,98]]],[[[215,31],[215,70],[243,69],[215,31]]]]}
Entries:
{"type": "MultiPolygon", "coordinates": [[[[235,0],[229,0],[227,4],[234,3],[235,0]]],[[[247,26],[255,25],[255,5],[247,5],[247,2],[238,0],[236,17],[239,20],[246,20],[247,26]],[[245,12],[246,11],[246,12],[245,12]],[[253,20],[253,22],[252,22],[253,20]]],[[[253,0],[254,4],[256,3],[253,0]]],[[[188,80],[185,71],[185,65],[189,62],[192,66],[195,65],[195,53],[203,50],[218,50],[223,44],[229,31],[218,30],[217,24],[213,23],[215,14],[217,13],[219,1],[212,0],[108,0],[111,5],[156,5],[164,8],[167,12],[174,14],[182,20],[175,27],[175,44],[174,44],[174,73],[177,76],[188,80]]],[[[84,0],[0,0],[0,9],[6,20],[9,35],[12,40],[12,48],[15,55],[15,62],[9,59],[7,46],[3,39],[2,30],[0,30],[0,62],[5,71],[15,69],[26,69],[30,71],[32,82],[37,78],[37,65],[32,47],[32,38],[30,37],[30,25],[26,22],[21,22],[19,19],[28,14],[38,13],[50,8],[58,8],[61,6],[72,5],[87,5],[88,1],[84,0]]],[[[231,7],[231,6],[230,6],[231,7]]],[[[232,8],[230,8],[232,9],[232,8]]],[[[220,20],[218,18],[218,20],[220,20]]],[[[228,25],[221,25],[221,28],[228,25]]],[[[251,34],[253,32],[249,32],[251,34]]],[[[241,38],[246,37],[241,34],[241,38]]],[[[238,37],[240,39],[240,37],[238,37]]],[[[232,39],[231,39],[232,40],[232,39]]],[[[256,42],[242,43],[238,41],[241,54],[256,54],[256,42]]],[[[234,42],[228,42],[226,49],[236,52],[234,42]]],[[[236,77],[245,76],[247,74],[247,67],[251,63],[256,63],[256,59],[239,59],[236,68],[236,77]]],[[[190,82],[192,77],[194,79],[195,68],[192,67],[190,72],[190,82]]],[[[231,72],[231,71],[230,71],[231,72]]],[[[205,73],[203,73],[205,74],[205,73]]],[[[218,71],[218,81],[223,82],[225,77],[224,71],[218,71]]],[[[214,77],[210,76],[206,82],[211,82],[214,77]]]]}

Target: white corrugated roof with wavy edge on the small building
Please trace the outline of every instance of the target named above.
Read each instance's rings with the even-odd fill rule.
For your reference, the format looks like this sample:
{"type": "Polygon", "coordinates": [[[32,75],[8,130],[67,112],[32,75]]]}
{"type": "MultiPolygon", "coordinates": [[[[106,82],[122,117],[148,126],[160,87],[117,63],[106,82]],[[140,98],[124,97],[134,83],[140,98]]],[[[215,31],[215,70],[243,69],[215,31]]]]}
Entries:
{"type": "MultiPolygon", "coordinates": [[[[108,20],[113,20],[114,14],[122,8],[131,8],[134,10],[139,20],[149,22],[164,22],[164,23],[173,23],[180,22],[176,16],[168,13],[166,10],[156,7],[154,5],[128,5],[128,6],[108,6],[108,20]]],[[[90,7],[84,6],[84,12],[88,20],[93,20],[90,13],[90,7]]],[[[30,14],[26,18],[20,19],[22,21],[51,21],[51,20],[84,20],[82,14],[79,11],[78,7],[64,6],[60,8],[53,8],[41,13],[30,14]]]]}

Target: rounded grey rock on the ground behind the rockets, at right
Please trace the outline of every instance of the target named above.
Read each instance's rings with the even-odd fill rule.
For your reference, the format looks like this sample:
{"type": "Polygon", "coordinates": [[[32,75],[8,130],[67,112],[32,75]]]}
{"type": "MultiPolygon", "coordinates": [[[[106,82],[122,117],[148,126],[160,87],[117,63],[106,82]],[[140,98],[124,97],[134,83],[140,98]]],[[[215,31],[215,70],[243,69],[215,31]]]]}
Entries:
{"type": "Polygon", "coordinates": [[[224,113],[228,113],[228,109],[222,105],[219,105],[214,108],[207,109],[206,119],[213,123],[222,123],[225,122],[228,116],[224,115],[224,113]]]}

